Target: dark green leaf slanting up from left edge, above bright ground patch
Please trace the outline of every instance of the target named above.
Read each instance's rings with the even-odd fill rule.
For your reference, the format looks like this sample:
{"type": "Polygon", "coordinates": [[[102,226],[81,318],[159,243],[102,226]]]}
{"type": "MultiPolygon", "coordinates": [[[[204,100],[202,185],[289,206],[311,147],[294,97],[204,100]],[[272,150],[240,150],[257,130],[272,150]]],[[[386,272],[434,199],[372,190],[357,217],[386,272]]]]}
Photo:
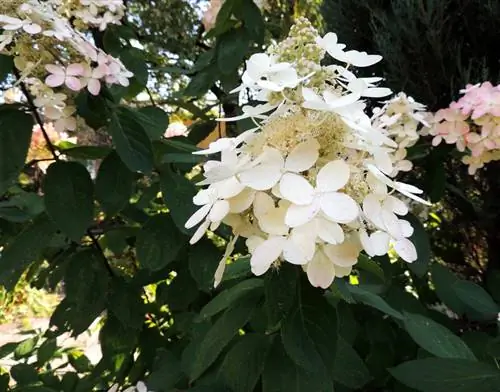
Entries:
{"type": "Polygon", "coordinates": [[[0,257],[0,285],[12,290],[28,266],[41,258],[56,228],[47,215],[35,218],[21,233],[4,245],[0,257]]]}

